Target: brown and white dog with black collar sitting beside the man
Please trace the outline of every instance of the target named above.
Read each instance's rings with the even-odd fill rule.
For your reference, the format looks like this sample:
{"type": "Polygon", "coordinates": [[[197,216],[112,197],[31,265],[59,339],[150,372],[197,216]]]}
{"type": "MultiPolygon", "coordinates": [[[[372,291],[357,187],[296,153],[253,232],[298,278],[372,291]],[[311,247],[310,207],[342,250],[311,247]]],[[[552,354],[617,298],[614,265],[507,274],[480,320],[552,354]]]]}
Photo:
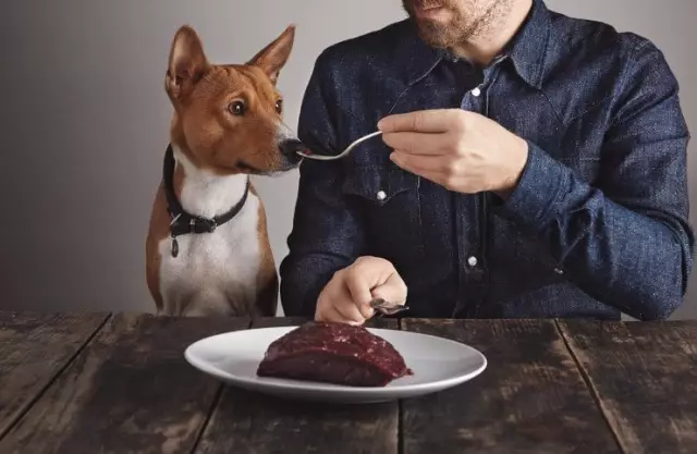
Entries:
{"type": "Polygon", "coordinates": [[[276,263],[249,175],[301,161],[276,87],[294,35],[291,25],[247,63],[220,65],[189,26],[174,36],[164,79],[174,114],[146,242],[158,315],[276,315],[276,263]]]}

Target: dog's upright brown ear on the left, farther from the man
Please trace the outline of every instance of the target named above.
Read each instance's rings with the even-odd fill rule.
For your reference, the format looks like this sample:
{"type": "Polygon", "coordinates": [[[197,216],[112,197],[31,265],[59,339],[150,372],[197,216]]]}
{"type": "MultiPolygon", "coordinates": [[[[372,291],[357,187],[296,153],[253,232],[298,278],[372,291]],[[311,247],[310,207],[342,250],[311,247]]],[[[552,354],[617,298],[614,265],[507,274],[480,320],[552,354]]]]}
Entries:
{"type": "Polygon", "coordinates": [[[173,99],[188,95],[209,69],[204,46],[196,32],[188,25],[174,35],[164,88],[173,99]]]}

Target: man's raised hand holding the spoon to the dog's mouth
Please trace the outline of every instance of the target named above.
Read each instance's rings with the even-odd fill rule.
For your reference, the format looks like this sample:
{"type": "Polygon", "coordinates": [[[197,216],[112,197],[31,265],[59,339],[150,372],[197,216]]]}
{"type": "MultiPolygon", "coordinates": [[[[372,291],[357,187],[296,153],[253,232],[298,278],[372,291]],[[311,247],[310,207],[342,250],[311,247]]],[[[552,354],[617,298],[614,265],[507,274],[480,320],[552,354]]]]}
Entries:
{"type": "Polygon", "coordinates": [[[464,194],[506,198],[527,161],[527,143],[497,122],[461,109],[389,115],[378,123],[404,170],[464,194]]]}

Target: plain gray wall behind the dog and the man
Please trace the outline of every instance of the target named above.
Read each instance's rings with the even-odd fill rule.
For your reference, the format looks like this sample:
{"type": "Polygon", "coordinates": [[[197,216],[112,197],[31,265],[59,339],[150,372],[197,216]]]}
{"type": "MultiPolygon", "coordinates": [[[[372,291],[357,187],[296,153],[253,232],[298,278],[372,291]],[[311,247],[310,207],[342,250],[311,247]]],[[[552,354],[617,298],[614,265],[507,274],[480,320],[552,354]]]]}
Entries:
{"type": "MultiPolygon", "coordinates": [[[[697,132],[695,0],[548,5],[652,39],[681,82],[697,132]]],[[[0,308],[151,309],[144,244],[171,114],[162,77],[181,24],[199,32],[212,61],[241,62],[296,23],[280,79],[295,127],[317,54],[402,17],[400,0],[1,2],[0,308]]],[[[277,262],[286,253],[296,182],[296,172],[257,180],[277,262]]],[[[694,273],[676,318],[697,316],[696,281],[694,273]]]]}

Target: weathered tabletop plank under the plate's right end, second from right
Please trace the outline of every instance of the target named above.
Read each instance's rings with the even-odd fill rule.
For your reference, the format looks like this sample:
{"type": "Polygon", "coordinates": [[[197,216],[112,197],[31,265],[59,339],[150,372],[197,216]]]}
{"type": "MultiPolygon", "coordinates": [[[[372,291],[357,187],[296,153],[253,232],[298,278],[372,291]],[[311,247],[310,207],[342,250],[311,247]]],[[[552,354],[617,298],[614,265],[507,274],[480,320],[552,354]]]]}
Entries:
{"type": "Polygon", "coordinates": [[[469,382],[403,402],[403,453],[620,452],[552,320],[406,319],[402,328],[472,345],[488,360],[469,382]]]}

